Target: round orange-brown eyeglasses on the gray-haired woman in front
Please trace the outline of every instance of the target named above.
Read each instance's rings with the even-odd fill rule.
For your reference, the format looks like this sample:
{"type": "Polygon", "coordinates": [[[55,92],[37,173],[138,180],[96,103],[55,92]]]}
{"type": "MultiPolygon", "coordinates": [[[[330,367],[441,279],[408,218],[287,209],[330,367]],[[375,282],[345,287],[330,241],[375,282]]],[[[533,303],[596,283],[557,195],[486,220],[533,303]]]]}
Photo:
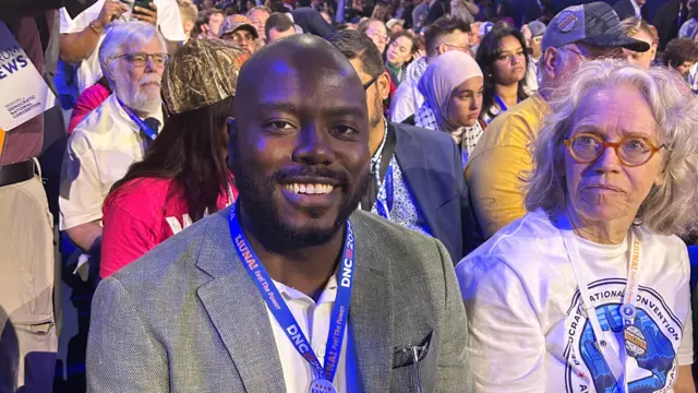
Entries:
{"type": "Polygon", "coordinates": [[[649,162],[662,147],[657,147],[647,138],[624,136],[621,142],[604,142],[601,138],[590,133],[578,133],[565,141],[565,146],[571,157],[579,164],[589,164],[597,160],[606,147],[613,147],[621,159],[621,164],[636,167],[649,162]]]}

